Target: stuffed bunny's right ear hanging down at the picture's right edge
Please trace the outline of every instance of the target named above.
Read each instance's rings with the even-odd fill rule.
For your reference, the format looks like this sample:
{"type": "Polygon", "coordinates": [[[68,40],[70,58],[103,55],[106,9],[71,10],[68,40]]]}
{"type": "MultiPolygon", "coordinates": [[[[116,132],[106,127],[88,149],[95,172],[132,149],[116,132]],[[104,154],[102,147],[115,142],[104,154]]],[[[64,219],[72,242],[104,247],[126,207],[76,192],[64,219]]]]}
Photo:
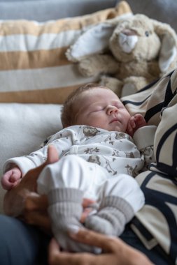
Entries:
{"type": "Polygon", "coordinates": [[[154,20],[154,27],[157,36],[161,40],[159,66],[162,73],[166,72],[170,64],[176,59],[177,37],[176,32],[169,24],[154,20]]]}

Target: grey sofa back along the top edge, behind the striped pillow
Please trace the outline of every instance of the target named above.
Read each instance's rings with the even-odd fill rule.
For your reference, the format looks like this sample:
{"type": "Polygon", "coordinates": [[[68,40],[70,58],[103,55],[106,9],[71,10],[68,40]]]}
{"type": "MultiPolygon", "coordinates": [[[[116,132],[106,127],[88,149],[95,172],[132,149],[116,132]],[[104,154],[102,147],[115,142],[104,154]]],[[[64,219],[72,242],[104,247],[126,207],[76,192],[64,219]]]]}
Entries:
{"type": "MultiPolygon", "coordinates": [[[[27,19],[43,22],[74,17],[111,8],[119,0],[0,0],[1,20],[27,19]]],[[[143,13],[176,29],[176,0],[127,0],[134,13],[143,13]]]]}

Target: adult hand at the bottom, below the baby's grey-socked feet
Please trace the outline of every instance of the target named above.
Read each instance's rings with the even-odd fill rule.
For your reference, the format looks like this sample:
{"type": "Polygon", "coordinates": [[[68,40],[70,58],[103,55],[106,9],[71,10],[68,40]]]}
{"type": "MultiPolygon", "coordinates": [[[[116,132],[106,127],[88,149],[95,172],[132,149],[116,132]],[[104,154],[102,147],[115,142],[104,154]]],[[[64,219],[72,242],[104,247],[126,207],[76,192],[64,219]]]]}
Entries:
{"type": "Polygon", "coordinates": [[[146,255],[130,247],[121,239],[106,236],[87,229],[80,229],[71,238],[81,243],[94,245],[103,250],[100,255],[90,253],[61,252],[55,239],[50,241],[48,262],[50,265],[152,265],[146,255]]]}

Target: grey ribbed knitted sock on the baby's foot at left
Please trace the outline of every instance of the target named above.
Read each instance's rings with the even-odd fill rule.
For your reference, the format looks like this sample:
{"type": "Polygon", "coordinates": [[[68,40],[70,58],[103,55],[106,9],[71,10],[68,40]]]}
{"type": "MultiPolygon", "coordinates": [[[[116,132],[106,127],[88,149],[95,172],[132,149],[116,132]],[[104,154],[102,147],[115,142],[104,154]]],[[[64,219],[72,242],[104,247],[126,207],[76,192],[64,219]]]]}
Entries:
{"type": "Polygon", "coordinates": [[[48,194],[48,213],[52,220],[52,232],[60,247],[73,252],[100,252],[98,248],[73,241],[69,227],[83,228],[80,216],[83,212],[83,192],[75,188],[57,188],[48,194]]]}

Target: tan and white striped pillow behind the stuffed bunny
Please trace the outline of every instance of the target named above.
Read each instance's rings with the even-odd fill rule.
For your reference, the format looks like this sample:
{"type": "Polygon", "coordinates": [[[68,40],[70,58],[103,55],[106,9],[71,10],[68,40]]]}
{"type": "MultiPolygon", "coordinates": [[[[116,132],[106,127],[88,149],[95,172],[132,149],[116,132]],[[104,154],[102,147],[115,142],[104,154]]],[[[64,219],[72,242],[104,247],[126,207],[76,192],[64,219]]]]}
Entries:
{"type": "Polygon", "coordinates": [[[0,21],[0,103],[60,104],[78,86],[97,82],[78,73],[65,52],[85,27],[131,12],[122,1],[82,17],[0,21]]]}

